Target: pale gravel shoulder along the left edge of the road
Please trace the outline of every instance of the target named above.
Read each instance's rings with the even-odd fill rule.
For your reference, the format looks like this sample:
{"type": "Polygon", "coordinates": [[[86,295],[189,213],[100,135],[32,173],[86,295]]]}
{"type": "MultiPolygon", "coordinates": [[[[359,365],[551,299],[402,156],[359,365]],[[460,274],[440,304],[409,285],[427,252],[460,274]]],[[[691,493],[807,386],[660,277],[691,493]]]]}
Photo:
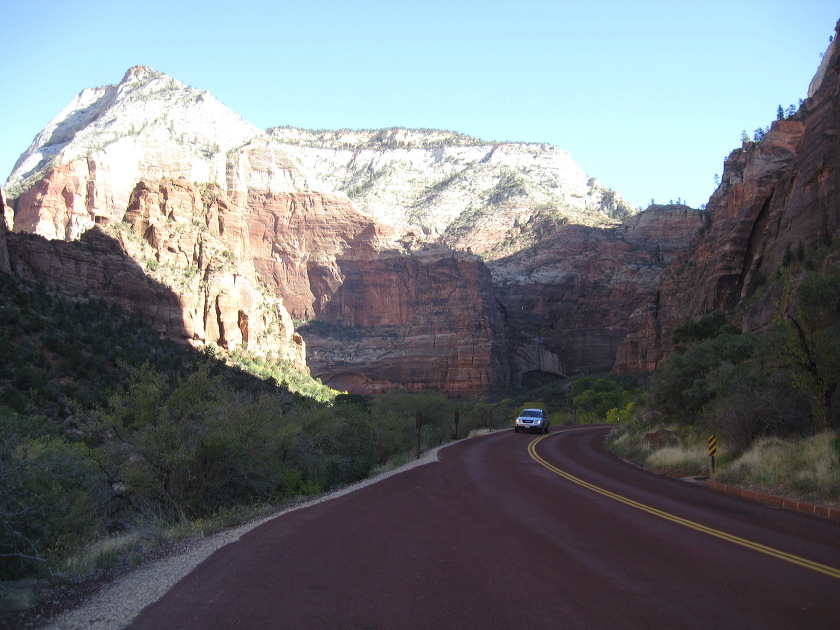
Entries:
{"type": "MultiPolygon", "coordinates": [[[[44,623],[29,620],[23,627],[43,630],[116,630],[127,626],[146,606],[160,599],[179,580],[190,573],[219,548],[271,519],[300,510],[322,501],[334,499],[416,466],[436,462],[438,451],[446,445],[426,452],[421,458],[400,468],[346,486],[334,492],[282,509],[275,514],[245,523],[230,530],[198,540],[168,546],[162,557],[131,569],[118,572],[111,580],[90,586],[92,593],[73,593],[69,601],[55,607],[56,612],[44,623]]],[[[20,626],[18,626],[20,627],[20,626]]]]}

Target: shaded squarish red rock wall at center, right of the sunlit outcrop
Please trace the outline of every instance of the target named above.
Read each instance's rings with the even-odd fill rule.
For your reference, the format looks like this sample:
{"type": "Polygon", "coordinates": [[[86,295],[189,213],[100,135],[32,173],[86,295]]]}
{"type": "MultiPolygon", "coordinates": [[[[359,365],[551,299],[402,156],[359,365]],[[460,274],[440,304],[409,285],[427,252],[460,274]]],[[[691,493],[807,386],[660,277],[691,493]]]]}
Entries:
{"type": "Polygon", "coordinates": [[[475,393],[508,383],[487,267],[446,248],[338,260],[343,282],[301,330],[314,376],[374,393],[475,393]]]}

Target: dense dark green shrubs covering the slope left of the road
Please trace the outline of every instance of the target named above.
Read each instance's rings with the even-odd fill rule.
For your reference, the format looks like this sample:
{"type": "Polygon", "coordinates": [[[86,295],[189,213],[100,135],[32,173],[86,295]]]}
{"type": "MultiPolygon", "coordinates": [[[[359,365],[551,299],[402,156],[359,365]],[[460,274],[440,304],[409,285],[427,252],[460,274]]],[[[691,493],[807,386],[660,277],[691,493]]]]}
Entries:
{"type": "Polygon", "coordinates": [[[197,352],[2,274],[0,350],[0,596],[403,463],[417,412],[423,450],[453,438],[456,413],[460,436],[507,423],[439,393],[327,395],[289,366],[197,352]]]}

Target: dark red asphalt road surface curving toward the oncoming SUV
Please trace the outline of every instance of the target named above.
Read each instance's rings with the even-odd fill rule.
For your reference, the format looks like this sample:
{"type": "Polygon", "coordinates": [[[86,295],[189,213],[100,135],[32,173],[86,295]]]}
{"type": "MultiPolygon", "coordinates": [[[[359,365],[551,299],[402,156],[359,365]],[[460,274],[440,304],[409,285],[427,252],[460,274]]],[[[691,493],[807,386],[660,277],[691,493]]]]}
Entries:
{"type": "Polygon", "coordinates": [[[640,471],[604,452],[606,429],[569,429],[538,456],[666,516],[500,431],[251,530],[129,628],[840,628],[840,525],[640,471]]]}

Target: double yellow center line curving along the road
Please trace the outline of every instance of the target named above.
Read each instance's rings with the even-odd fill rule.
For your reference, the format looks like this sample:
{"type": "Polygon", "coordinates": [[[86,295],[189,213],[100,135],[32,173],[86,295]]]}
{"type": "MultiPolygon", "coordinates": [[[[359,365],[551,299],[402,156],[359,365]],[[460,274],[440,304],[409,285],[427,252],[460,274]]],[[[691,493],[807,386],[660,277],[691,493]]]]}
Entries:
{"type": "MultiPolygon", "coordinates": [[[[580,430],[580,429],[570,429],[580,430]]],[[[564,433],[565,431],[557,431],[555,433],[564,433]]],[[[822,573],[824,575],[828,575],[834,578],[840,578],[840,569],[835,569],[834,567],[829,567],[824,564],[820,564],[819,562],[814,562],[812,560],[808,560],[806,558],[801,558],[799,556],[795,556],[793,554],[787,553],[785,551],[780,551],[779,549],[774,549],[773,547],[768,547],[766,545],[762,545],[760,543],[753,542],[751,540],[747,540],[746,538],[741,538],[739,536],[734,536],[733,534],[728,534],[723,532],[719,529],[715,529],[713,527],[708,527],[706,525],[702,525],[695,521],[690,521],[686,518],[682,518],[680,516],[676,516],[675,514],[671,514],[670,512],[665,512],[663,510],[659,510],[657,508],[651,507],[649,505],[645,505],[644,503],[639,503],[638,501],[634,501],[633,499],[629,499],[625,496],[620,494],[616,494],[615,492],[610,492],[600,486],[596,486],[595,484],[589,483],[588,481],[584,481],[580,477],[575,477],[574,475],[566,472],[565,470],[561,470],[557,468],[553,464],[550,464],[546,460],[544,460],[540,455],[537,453],[537,444],[541,441],[549,437],[549,435],[544,435],[536,440],[532,441],[528,445],[528,453],[530,454],[531,458],[536,461],[541,466],[544,466],[551,472],[560,475],[564,479],[568,479],[572,483],[575,483],[579,486],[586,488],[587,490],[591,490],[592,492],[597,492],[598,494],[618,501],[619,503],[624,503],[625,505],[629,505],[630,507],[636,508],[637,510],[641,510],[643,512],[647,512],[648,514],[652,514],[654,516],[658,516],[659,518],[664,518],[666,521],[671,521],[672,523],[677,523],[678,525],[682,525],[684,527],[688,527],[689,529],[693,529],[698,532],[703,532],[705,534],[709,534],[710,536],[714,536],[715,538],[720,538],[721,540],[729,541],[733,544],[739,545],[741,547],[746,547],[747,549],[752,549],[753,551],[758,551],[759,553],[763,553],[768,556],[772,556],[774,558],[778,558],[779,560],[784,560],[785,562],[790,562],[791,564],[795,564],[800,567],[804,567],[806,569],[811,569],[812,571],[816,571],[818,573],[822,573]]]]}

